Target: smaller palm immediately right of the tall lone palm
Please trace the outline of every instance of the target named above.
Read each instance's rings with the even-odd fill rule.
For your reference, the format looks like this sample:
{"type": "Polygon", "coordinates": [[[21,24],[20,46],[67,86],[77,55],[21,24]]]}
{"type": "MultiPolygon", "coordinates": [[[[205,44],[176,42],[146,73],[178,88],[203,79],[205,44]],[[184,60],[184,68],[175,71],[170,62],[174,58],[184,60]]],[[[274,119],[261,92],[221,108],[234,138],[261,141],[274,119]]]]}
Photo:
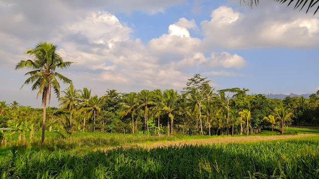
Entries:
{"type": "Polygon", "coordinates": [[[68,120],[73,122],[72,112],[73,108],[75,108],[75,105],[79,102],[79,90],[76,90],[71,84],[68,88],[62,91],[62,93],[64,94],[64,97],[59,98],[60,106],[62,109],[70,111],[70,118],[68,120]]]}

